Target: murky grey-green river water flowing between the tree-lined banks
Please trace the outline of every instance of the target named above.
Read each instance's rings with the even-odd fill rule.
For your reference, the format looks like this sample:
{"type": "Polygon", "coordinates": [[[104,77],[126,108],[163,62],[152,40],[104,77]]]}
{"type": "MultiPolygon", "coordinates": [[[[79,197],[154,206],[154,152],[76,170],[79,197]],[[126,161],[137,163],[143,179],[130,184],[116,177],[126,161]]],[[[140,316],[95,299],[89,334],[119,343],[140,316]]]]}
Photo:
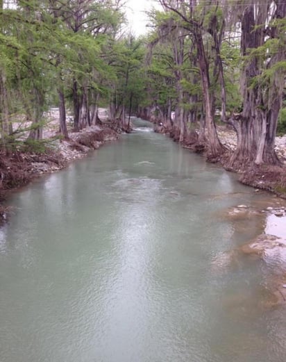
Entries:
{"type": "Polygon", "coordinates": [[[135,123],[12,196],[0,361],[284,362],[264,263],[219,262],[265,224],[226,211],[269,196],[135,123]]]}

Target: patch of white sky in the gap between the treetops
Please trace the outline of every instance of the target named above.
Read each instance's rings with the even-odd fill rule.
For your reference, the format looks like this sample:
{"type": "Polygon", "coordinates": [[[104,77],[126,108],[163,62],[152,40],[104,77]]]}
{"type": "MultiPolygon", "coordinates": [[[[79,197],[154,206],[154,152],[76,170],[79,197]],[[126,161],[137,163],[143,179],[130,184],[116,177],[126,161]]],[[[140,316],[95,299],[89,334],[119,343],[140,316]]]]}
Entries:
{"type": "Polygon", "coordinates": [[[142,35],[148,31],[146,24],[148,18],[144,11],[151,10],[155,6],[155,0],[127,0],[126,15],[130,27],[135,35],[142,35]]]}

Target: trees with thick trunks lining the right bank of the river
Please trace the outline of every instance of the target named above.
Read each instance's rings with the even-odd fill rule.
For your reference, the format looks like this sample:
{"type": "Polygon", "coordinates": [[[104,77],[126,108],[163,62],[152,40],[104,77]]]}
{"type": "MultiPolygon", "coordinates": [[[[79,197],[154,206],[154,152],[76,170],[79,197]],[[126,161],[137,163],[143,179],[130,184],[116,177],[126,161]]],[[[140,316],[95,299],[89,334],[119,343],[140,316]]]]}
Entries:
{"type": "Polygon", "coordinates": [[[162,11],[151,14],[149,94],[165,131],[196,142],[215,160],[225,151],[218,119],[237,132],[229,167],[279,165],[274,146],[285,97],[286,1],[159,3],[162,11]]]}

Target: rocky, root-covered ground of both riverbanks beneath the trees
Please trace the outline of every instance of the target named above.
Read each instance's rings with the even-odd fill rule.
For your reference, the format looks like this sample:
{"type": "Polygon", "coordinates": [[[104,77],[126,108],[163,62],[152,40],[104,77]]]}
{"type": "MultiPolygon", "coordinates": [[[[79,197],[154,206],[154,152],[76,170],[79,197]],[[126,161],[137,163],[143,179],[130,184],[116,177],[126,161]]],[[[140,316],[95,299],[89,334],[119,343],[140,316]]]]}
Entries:
{"type": "MultiPolygon", "coordinates": [[[[75,159],[83,158],[92,149],[98,149],[105,142],[116,140],[119,130],[112,129],[107,122],[108,113],[105,108],[99,109],[101,126],[90,126],[80,132],[72,131],[68,124],[69,140],[60,140],[58,136],[58,110],[49,111],[48,122],[44,127],[43,138],[47,141],[47,149],[42,153],[19,151],[0,158],[0,202],[7,192],[26,185],[31,179],[44,173],[55,172],[66,167],[75,159]]],[[[156,132],[169,133],[155,124],[156,132]]],[[[217,126],[217,133],[228,154],[235,150],[237,138],[235,131],[227,126],[217,126]]],[[[183,143],[183,147],[192,149],[192,145],[183,143]]],[[[194,150],[194,149],[192,149],[194,150]]],[[[230,170],[239,174],[239,181],[254,188],[268,190],[286,198],[286,135],[276,138],[276,153],[283,167],[256,167],[251,170],[230,170]]],[[[226,167],[226,158],[219,163],[226,167]]],[[[226,167],[227,168],[227,167],[226,167]]],[[[229,170],[229,169],[228,169],[229,170]]],[[[5,219],[7,209],[0,205],[0,221],[5,219]]]]}

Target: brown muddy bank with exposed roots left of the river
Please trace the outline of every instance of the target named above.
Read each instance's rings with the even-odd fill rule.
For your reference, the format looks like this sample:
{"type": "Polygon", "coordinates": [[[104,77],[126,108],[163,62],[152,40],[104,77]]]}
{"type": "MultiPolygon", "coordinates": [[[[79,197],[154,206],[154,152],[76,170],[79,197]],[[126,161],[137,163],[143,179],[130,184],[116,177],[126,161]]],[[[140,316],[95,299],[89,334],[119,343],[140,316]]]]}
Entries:
{"type": "MultiPolygon", "coordinates": [[[[49,136],[53,137],[49,131],[49,136]]],[[[117,140],[119,133],[110,126],[90,126],[77,133],[70,133],[69,140],[51,138],[42,153],[17,151],[0,155],[0,202],[10,190],[25,186],[35,177],[55,172],[68,163],[83,158],[91,150],[98,149],[106,142],[117,140]]],[[[0,204],[0,223],[7,218],[9,208],[0,204]]]]}

